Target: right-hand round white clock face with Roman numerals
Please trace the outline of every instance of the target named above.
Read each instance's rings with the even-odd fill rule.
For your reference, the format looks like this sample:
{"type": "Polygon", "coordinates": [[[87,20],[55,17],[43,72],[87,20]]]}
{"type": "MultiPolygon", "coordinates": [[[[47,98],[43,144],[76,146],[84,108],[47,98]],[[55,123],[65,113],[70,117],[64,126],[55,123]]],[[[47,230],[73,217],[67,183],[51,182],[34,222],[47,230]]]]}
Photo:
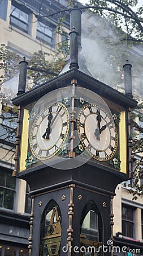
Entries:
{"type": "Polygon", "coordinates": [[[94,159],[110,160],[118,147],[112,115],[96,104],[85,104],[77,116],[77,132],[81,144],[94,159]]]}

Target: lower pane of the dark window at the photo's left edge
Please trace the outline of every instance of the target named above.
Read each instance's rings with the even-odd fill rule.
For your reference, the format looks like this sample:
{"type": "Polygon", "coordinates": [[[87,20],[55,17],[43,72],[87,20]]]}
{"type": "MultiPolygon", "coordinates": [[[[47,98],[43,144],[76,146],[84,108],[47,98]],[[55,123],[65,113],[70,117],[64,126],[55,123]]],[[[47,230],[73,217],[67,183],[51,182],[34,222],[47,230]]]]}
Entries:
{"type": "Polygon", "coordinates": [[[14,191],[5,189],[3,207],[13,210],[14,207],[14,191]]]}

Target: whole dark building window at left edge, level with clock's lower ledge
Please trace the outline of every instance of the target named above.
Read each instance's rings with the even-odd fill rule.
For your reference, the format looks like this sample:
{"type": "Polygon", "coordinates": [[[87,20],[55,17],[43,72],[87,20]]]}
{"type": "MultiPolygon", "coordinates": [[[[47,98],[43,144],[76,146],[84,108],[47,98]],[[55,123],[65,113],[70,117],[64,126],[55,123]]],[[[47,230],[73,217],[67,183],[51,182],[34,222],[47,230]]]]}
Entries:
{"type": "Polygon", "coordinates": [[[11,172],[0,171],[0,207],[14,209],[16,178],[11,172]]]}

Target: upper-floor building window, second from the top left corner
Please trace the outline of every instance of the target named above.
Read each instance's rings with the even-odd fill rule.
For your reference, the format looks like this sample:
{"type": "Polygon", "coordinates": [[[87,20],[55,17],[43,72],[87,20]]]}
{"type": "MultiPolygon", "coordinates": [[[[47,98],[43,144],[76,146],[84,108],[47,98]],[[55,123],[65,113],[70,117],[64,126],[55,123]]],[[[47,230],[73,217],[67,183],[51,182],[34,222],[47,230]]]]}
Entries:
{"type": "Polygon", "coordinates": [[[36,38],[55,47],[55,27],[50,23],[43,23],[38,20],[36,38]]]}

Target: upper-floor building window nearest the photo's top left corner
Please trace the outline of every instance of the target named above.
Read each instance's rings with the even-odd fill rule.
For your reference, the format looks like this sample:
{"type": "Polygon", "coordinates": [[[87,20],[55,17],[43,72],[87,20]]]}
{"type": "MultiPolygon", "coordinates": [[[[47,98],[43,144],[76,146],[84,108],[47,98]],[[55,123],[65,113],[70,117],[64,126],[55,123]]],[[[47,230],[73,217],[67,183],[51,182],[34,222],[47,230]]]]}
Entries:
{"type": "Polygon", "coordinates": [[[24,5],[14,4],[11,5],[10,24],[19,28],[20,30],[29,34],[29,13],[24,5]]]}

